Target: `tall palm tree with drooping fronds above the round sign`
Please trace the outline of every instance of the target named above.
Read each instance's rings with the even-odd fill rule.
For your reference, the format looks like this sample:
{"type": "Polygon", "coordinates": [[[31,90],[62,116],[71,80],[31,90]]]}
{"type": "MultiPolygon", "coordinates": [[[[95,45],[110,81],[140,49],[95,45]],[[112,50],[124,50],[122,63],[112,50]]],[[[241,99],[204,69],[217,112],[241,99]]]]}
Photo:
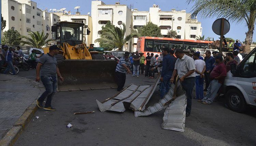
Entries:
{"type": "Polygon", "coordinates": [[[246,22],[245,52],[250,52],[256,19],[256,0],[187,0],[194,2],[191,18],[224,17],[233,22],[246,22]]]}

